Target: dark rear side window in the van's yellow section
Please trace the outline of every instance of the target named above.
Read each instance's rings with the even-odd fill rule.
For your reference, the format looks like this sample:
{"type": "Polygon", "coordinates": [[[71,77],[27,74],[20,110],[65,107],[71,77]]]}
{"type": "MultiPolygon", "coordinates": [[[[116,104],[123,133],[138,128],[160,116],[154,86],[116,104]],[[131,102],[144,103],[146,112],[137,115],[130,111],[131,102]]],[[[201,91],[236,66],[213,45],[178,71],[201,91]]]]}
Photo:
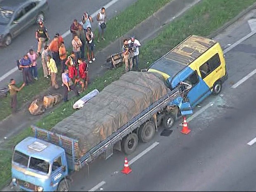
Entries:
{"type": "Polygon", "coordinates": [[[218,53],[216,53],[215,55],[213,55],[213,57],[211,57],[211,59],[209,59],[207,62],[199,67],[201,77],[205,78],[218,66],[220,66],[220,57],[218,53]]]}

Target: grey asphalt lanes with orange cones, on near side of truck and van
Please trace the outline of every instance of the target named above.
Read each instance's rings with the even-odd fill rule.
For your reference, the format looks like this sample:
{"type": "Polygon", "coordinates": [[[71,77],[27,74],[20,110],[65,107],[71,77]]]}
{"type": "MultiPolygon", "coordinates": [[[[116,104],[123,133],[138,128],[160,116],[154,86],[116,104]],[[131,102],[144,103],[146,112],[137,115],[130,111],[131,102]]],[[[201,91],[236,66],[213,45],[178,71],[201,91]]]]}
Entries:
{"type": "MultiPolygon", "coordinates": [[[[237,25],[217,37],[223,47],[250,32],[247,23],[237,25]]],[[[255,191],[256,76],[248,76],[256,69],[255,42],[256,35],[225,53],[228,81],[219,96],[195,109],[189,135],[180,133],[179,120],[170,136],[161,136],[160,130],[128,156],[133,163],[129,175],[121,173],[125,155],[115,152],[74,173],[71,190],[255,191]]]]}

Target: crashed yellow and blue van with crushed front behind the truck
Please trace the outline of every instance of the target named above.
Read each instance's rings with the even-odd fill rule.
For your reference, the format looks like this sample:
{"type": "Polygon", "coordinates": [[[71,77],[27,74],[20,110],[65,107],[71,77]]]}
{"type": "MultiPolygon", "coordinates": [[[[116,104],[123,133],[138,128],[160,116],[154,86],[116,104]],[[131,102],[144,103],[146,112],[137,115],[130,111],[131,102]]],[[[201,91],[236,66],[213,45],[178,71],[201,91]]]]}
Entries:
{"type": "Polygon", "coordinates": [[[170,89],[177,87],[180,82],[192,85],[187,92],[189,102],[178,97],[169,104],[172,113],[166,128],[170,128],[178,116],[192,114],[192,109],[210,94],[218,95],[228,78],[220,44],[195,35],[187,37],[156,60],[147,71],[160,73],[170,89]]]}

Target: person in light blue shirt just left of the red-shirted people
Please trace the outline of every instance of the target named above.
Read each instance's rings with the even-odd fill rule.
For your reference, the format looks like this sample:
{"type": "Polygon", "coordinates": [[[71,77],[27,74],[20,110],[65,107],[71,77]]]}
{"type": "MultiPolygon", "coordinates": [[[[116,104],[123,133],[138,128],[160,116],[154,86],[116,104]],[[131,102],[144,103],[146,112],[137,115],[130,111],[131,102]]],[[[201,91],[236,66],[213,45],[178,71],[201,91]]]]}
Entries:
{"type": "Polygon", "coordinates": [[[64,87],[64,94],[63,94],[63,100],[64,102],[68,101],[68,93],[70,90],[73,90],[75,92],[76,96],[79,97],[78,90],[76,89],[76,86],[73,84],[73,82],[69,78],[68,69],[64,70],[64,73],[62,73],[62,83],[64,87]]]}

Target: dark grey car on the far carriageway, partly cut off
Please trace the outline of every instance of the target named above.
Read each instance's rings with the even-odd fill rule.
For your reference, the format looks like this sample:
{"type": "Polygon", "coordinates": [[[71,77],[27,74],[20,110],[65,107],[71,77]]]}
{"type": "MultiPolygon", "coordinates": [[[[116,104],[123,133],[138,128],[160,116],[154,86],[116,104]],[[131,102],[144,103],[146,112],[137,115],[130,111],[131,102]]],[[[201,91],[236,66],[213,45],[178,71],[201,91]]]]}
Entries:
{"type": "Polygon", "coordinates": [[[44,20],[47,0],[0,0],[0,45],[8,46],[22,31],[44,20]]]}

